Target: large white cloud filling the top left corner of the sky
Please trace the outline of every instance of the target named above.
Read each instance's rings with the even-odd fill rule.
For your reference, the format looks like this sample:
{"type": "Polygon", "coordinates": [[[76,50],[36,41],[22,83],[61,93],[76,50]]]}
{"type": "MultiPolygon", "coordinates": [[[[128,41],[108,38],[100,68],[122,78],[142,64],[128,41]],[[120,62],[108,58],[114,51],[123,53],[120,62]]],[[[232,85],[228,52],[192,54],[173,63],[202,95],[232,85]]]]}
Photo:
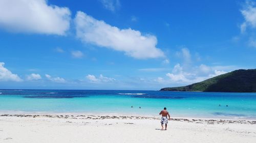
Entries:
{"type": "Polygon", "coordinates": [[[12,32],[65,35],[71,12],[47,0],[0,1],[0,27],[12,32]]]}

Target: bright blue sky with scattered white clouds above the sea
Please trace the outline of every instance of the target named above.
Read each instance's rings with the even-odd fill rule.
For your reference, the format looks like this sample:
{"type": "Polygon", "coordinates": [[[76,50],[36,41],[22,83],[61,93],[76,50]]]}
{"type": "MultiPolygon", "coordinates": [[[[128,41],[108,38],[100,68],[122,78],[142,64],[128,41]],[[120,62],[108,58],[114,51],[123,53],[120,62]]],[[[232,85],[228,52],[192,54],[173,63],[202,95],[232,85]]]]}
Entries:
{"type": "Polygon", "coordinates": [[[159,90],[254,69],[255,1],[0,1],[0,89],[159,90]]]}

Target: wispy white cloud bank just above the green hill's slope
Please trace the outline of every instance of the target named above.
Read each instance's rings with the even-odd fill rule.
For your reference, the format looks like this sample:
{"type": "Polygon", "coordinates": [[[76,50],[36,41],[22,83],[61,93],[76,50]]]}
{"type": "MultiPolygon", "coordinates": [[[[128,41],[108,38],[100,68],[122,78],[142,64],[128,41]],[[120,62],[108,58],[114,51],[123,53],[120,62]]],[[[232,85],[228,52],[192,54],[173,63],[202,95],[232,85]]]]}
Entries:
{"type": "Polygon", "coordinates": [[[181,48],[176,52],[182,64],[176,64],[172,71],[165,74],[165,77],[158,77],[154,81],[165,84],[190,84],[200,82],[205,79],[215,77],[239,69],[236,66],[207,66],[204,64],[198,65],[199,53],[191,54],[188,48],[181,48]]]}

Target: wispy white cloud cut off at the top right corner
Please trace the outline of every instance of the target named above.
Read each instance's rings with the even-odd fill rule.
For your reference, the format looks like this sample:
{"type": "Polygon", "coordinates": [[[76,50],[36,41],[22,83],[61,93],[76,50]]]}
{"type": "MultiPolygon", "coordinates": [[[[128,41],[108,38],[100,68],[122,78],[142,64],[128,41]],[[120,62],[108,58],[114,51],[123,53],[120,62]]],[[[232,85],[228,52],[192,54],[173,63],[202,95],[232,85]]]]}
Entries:
{"type": "Polygon", "coordinates": [[[241,24],[241,33],[246,31],[248,26],[253,28],[256,27],[256,7],[255,3],[251,1],[246,1],[244,8],[241,10],[245,21],[241,24]]]}

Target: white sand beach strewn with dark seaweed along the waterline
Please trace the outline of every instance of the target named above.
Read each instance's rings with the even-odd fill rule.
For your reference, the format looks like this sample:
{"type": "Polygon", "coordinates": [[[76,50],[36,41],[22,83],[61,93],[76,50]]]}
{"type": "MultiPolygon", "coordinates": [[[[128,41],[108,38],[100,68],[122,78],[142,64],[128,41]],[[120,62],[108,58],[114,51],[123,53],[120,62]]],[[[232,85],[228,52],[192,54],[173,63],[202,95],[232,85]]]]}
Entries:
{"type": "Polygon", "coordinates": [[[89,115],[1,115],[0,142],[256,142],[256,121],[89,115]]]}

